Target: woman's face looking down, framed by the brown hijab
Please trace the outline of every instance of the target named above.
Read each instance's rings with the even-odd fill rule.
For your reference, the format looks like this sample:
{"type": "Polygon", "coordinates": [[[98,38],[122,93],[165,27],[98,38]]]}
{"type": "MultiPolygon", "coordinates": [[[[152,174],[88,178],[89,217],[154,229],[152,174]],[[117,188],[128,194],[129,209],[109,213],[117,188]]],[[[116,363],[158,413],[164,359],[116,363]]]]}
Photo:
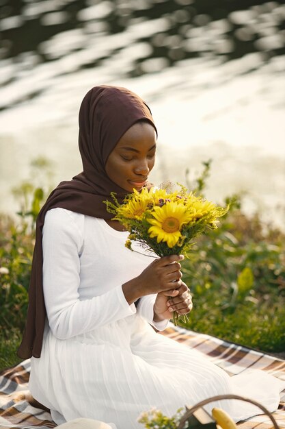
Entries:
{"type": "Polygon", "coordinates": [[[107,175],[125,191],[139,191],[154,166],[156,147],[154,127],[144,121],[135,123],[111,151],[105,164],[107,175]]]}

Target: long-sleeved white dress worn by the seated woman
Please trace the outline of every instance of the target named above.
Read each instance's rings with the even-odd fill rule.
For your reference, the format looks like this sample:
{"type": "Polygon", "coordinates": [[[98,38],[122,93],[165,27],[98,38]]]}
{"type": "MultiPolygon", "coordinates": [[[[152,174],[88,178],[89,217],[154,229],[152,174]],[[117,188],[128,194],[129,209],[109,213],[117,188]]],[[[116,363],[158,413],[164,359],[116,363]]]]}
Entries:
{"type": "MultiPolygon", "coordinates": [[[[88,417],[118,429],[142,428],[137,417],[152,406],[173,415],[223,393],[252,397],[275,410],[284,382],[258,370],[230,377],[199,352],[157,334],[152,326],[163,330],[167,321],[152,320],[155,295],[141,298],[137,308],[128,305],[121,285],[153,259],[126,249],[127,235],[103,219],[62,208],[47,212],[48,321],[41,357],[31,358],[33,397],[51,409],[57,424],[88,417]]],[[[241,401],[215,406],[235,421],[260,412],[241,401]]]]}

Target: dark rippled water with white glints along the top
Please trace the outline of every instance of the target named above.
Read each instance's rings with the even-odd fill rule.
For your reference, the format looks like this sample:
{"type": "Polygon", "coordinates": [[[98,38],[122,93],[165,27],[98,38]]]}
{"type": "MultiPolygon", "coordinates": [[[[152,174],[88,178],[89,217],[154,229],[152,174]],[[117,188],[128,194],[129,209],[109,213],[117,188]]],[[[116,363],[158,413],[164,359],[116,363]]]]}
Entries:
{"type": "MultiPolygon", "coordinates": [[[[0,84],[46,62],[55,62],[55,77],[98,68],[109,58],[116,60],[110,65],[120,67],[120,77],[136,77],[189,58],[226,62],[257,53],[249,71],[284,54],[285,6],[250,0],[245,9],[243,3],[1,0],[0,84]]],[[[1,108],[43,89],[5,99],[1,108]]]]}

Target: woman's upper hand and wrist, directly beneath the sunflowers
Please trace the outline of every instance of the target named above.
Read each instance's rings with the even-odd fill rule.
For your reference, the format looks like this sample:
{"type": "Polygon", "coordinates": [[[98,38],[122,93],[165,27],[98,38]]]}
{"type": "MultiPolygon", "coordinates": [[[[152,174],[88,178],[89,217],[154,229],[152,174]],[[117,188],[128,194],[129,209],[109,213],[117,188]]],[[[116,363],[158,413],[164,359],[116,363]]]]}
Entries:
{"type": "Polygon", "coordinates": [[[174,296],[176,289],[182,284],[181,265],[182,255],[171,255],[158,258],[151,262],[136,278],[122,285],[128,304],[144,295],[169,291],[167,295],[174,296]]]}

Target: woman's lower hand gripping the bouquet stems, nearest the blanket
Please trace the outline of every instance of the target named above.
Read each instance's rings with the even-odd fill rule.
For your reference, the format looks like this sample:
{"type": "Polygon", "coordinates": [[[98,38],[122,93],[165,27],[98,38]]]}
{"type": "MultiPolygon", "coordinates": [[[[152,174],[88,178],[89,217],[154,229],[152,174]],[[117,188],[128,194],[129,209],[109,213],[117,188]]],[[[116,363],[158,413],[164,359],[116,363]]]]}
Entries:
{"type": "Polygon", "coordinates": [[[154,321],[172,319],[174,311],[178,315],[187,315],[192,308],[192,297],[188,286],[182,282],[178,289],[171,289],[157,294],[157,299],[154,302],[154,321]]]}

